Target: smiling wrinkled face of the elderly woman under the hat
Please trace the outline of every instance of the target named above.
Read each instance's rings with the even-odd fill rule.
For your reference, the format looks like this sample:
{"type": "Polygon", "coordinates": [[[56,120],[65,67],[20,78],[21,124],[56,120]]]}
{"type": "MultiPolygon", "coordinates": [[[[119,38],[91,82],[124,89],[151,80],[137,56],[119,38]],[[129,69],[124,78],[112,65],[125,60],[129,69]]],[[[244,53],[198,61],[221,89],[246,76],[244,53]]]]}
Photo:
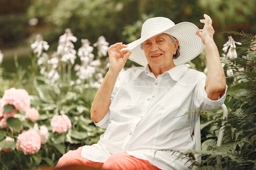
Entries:
{"type": "MultiPolygon", "coordinates": [[[[162,33],[149,38],[143,43],[143,50],[150,68],[157,67],[169,70],[174,65],[173,54],[179,46],[179,41],[173,42],[170,35],[162,33]]],[[[167,71],[166,70],[166,71],[167,71]]]]}

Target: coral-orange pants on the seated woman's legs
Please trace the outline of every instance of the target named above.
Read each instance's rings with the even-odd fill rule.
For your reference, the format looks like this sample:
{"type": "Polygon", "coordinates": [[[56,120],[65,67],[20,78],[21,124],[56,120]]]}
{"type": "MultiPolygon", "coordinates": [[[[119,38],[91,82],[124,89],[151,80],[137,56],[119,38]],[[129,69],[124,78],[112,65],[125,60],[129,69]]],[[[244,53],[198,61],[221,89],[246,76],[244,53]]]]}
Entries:
{"type": "Polygon", "coordinates": [[[81,157],[82,148],[81,146],[77,150],[70,150],[64,154],[59,159],[56,168],[60,169],[65,166],[76,165],[106,170],[160,170],[149,161],[130,156],[126,152],[114,154],[104,163],[93,162],[81,157]]]}

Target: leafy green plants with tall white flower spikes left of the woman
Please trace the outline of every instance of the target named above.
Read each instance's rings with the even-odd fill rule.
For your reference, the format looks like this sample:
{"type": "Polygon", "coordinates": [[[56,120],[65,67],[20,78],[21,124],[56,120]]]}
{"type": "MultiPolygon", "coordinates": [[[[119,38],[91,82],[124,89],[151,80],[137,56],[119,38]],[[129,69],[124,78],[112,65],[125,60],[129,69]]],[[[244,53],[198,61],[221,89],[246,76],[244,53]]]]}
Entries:
{"type": "MultiPolygon", "coordinates": [[[[16,108],[14,104],[2,106],[7,91],[4,91],[3,95],[1,94],[0,170],[55,166],[58,159],[68,150],[97,143],[99,136],[104,132],[103,129],[96,127],[90,119],[90,107],[107,69],[106,47],[108,42],[103,37],[99,38],[97,42],[99,55],[94,58],[93,47],[87,46],[90,45],[87,40],[82,41],[82,47],[76,55],[72,44],[76,40],[70,29],[67,29],[65,34],[60,37],[54,57],[49,57],[46,53],[49,45],[38,35],[36,41],[31,44],[34,54],[29,56],[31,58],[29,67],[22,68],[16,59],[17,73],[7,74],[4,72],[3,75],[0,75],[0,78],[4,77],[4,79],[13,76],[14,79],[9,79],[10,83],[7,85],[12,84],[15,88],[25,89],[29,93],[31,108],[35,108],[39,113],[34,120],[28,116],[27,111],[16,108]],[[63,48],[64,46],[65,48],[63,48]],[[77,60],[82,58],[88,60],[79,61],[79,65],[74,62],[74,57],[77,57],[77,60]],[[85,72],[81,73],[81,71],[87,71],[87,77],[82,77],[85,72]],[[4,115],[6,113],[10,115],[15,109],[18,109],[15,111],[15,115],[4,120],[4,115]],[[52,118],[60,115],[67,116],[71,125],[66,130],[56,131],[52,125],[52,118]],[[45,135],[43,141],[41,139],[39,150],[33,154],[16,147],[22,134],[31,129],[39,130],[38,134],[40,134],[42,126],[47,129],[47,133],[44,132],[45,135]]],[[[3,87],[5,87],[4,90],[10,88],[3,87]]],[[[2,88],[0,90],[3,91],[2,88]]],[[[19,98],[19,94],[16,94],[13,100],[17,98],[19,98]]],[[[32,138],[34,136],[29,137],[29,139],[32,138]]]]}

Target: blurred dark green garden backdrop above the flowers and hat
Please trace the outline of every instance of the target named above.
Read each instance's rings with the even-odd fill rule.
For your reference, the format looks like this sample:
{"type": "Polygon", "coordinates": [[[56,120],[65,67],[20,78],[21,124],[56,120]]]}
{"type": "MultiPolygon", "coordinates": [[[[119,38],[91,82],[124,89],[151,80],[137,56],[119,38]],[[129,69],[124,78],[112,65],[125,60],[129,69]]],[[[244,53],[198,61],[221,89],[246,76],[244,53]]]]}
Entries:
{"type": "Polygon", "coordinates": [[[14,71],[15,55],[21,65],[28,65],[30,44],[38,33],[50,50],[56,50],[66,28],[78,38],[76,49],[81,38],[94,43],[101,35],[110,44],[129,43],[139,38],[141,24],[150,17],[189,21],[202,28],[199,20],[204,13],[213,20],[215,41],[222,53],[229,36],[223,32],[243,30],[256,35],[255,7],[256,0],[0,0],[2,65],[5,71],[14,71]]]}

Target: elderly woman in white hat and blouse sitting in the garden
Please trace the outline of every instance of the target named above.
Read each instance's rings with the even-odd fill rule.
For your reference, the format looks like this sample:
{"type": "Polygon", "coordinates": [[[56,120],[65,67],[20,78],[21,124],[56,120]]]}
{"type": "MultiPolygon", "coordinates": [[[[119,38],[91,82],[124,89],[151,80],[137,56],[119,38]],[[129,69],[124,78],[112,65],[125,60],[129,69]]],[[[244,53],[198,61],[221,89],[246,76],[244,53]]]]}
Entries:
{"type": "Polygon", "coordinates": [[[220,55],[213,40],[211,18],[204,28],[190,22],[174,24],[164,17],[144,22],[141,38],[108,49],[110,68],[91,108],[94,123],[106,128],[97,144],[69,151],[58,167],[76,164],[110,170],[187,170],[188,159],[178,153],[194,148],[198,114],[191,109],[214,109],[227,89],[220,55]],[[206,47],[207,77],[185,63],[206,47]],[[141,67],[120,73],[126,60],[141,67]]]}

